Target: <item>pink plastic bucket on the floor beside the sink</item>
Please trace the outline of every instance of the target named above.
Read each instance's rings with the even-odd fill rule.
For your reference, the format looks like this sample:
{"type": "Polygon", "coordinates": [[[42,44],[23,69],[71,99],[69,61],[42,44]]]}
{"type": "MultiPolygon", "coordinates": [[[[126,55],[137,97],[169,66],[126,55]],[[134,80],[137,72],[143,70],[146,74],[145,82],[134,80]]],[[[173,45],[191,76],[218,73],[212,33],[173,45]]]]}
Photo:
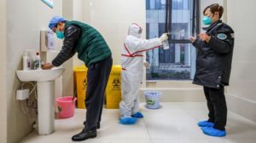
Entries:
{"type": "Polygon", "coordinates": [[[77,98],[74,98],[73,100],[72,99],[72,96],[66,96],[59,97],[55,100],[57,102],[59,117],[73,117],[77,98]]]}

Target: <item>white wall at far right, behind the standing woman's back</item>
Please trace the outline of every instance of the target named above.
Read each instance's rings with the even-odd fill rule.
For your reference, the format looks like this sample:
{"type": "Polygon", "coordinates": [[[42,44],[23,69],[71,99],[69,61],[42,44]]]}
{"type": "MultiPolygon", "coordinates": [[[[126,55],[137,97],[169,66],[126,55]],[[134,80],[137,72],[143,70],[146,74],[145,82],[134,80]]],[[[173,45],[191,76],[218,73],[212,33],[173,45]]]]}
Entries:
{"type": "Polygon", "coordinates": [[[228,24],[235,31],[235,48],[228,89],[229,109],[256,122],[255,0],[227,0],[228,24]],[[252,18],[249,18],[252,16],[252,18]]]}

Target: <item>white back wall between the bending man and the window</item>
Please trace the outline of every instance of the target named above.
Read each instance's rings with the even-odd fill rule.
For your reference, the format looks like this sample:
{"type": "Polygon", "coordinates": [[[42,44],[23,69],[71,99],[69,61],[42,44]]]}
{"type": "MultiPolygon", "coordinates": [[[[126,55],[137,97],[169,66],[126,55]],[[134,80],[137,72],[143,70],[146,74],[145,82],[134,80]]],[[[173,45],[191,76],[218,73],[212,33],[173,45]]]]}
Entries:
{"type": "Polygon", "coordinates": [[[82,10],[83,22],[95,27],[106,39],[113,53],[113,64],[120,64],[121,49],[131,23],[140,24],[145,37],[145,0],[84,0],[82,10]]]}

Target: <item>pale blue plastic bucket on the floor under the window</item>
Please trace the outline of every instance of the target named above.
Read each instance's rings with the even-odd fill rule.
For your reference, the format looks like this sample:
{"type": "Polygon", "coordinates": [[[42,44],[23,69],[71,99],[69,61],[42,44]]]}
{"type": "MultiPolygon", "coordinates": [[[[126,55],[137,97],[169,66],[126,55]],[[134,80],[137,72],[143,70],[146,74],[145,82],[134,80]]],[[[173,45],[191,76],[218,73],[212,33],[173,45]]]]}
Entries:
{"type": "Polygon", "coordinates": [[[149,109],[158,109],[160,107],[160,96],[159,91],[145,91],[146,107],[149,109]]]}

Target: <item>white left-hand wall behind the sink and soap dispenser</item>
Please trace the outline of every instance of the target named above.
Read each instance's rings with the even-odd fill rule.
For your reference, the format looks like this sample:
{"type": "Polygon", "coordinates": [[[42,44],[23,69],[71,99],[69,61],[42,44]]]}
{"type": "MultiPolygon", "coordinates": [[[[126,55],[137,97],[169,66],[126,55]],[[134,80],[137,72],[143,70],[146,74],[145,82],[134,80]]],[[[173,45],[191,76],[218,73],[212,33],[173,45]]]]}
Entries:
{"type": "Polygon", "coordinates": [[[2,69],[6,72],[6,82],[4,84],[6,86],[8,121],[7,142],[9,143],[18,142],[31,131],[28,117],[23,115],[20,102],[15,100],[15,90],[20,87],[15,71],[22,68],[21,54],[25,49],[39,51],[40,30],[48,28],[49,19],[55,14],[62,14],[62,1],[55,0],[54,3],[55,9],[49,9],[40,0],[6,1],[8,33],[6,66],[3,66],[2,69]]]}

